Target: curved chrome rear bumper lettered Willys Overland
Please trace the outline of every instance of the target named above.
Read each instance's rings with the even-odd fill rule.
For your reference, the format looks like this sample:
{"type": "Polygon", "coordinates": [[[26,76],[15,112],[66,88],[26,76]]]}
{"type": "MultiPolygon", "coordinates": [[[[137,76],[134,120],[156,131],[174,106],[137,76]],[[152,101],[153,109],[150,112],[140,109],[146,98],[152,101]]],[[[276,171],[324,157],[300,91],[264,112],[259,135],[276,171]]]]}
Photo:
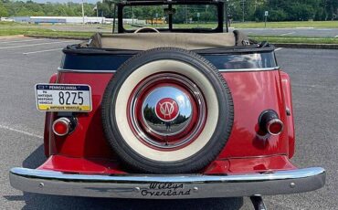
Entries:
{"type": "Polygon", "coordinates": [[[308,192],[325,184],[325,170],[313,167],[236,175],[84,175],[13,168],[9,178],[16,189],[38,194],[183,199],[308,192]]]}

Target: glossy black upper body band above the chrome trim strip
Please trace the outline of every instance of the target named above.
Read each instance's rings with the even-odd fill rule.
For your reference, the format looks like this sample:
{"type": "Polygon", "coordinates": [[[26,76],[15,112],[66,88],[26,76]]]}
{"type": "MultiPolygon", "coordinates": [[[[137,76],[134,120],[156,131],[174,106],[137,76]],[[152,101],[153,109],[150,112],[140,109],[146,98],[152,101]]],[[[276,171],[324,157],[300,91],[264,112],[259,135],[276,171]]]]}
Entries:
{"type": "MultiPolygon", "coordinates": [[[[218,69],[276,68],[274,47],[234,47],[194,50],[218,69]]],[[[74,70],[117,70],[140,51],[91,49],[69,46],[60,68],[74,70]]]]}

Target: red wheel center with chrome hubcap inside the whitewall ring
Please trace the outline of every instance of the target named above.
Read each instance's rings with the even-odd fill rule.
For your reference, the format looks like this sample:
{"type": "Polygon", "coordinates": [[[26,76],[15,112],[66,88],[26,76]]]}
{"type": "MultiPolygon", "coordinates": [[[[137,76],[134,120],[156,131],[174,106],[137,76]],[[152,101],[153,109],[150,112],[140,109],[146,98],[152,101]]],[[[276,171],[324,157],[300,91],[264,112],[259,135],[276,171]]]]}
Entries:
{"type": "Polygon", "coordinates": [[[130,102],[128,117],[136,137],[159,150],[194,142],[206,121],[203,94],[193,81],[174,73],[143,79],[130,102]]]}

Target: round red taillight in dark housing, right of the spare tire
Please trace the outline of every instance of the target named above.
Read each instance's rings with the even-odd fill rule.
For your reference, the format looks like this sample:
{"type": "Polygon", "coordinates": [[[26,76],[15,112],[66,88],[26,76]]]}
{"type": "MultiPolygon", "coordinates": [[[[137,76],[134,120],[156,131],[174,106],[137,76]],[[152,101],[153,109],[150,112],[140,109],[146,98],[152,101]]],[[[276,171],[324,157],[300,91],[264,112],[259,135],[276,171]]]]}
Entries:
{"type": "Polygon", "coordinates": [[[259,116],[260,131],[271,135],[279,135],[283,131],[283,122],[274,110],[265,110],[259,116]]]}

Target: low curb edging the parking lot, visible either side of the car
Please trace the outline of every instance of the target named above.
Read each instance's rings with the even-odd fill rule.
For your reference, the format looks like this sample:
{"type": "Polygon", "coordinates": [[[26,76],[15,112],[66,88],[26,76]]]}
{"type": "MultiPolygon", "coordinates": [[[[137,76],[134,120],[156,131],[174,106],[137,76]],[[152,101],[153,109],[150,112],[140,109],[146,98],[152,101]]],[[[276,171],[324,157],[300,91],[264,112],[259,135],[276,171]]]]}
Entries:
{"type": "MultiPolygon", "coordinates": [[[[25,35],[25,37],[50,38],[50,39],[76,39],[88,40],[90,37],[68,37],[68,36],[45,36],[45,35],[25,35]]],[[[304,43],[271,43],[275,47],[283,48],[318,48],[318,49],[338,49],[338,44],[304,44],[304,43]]]]}

